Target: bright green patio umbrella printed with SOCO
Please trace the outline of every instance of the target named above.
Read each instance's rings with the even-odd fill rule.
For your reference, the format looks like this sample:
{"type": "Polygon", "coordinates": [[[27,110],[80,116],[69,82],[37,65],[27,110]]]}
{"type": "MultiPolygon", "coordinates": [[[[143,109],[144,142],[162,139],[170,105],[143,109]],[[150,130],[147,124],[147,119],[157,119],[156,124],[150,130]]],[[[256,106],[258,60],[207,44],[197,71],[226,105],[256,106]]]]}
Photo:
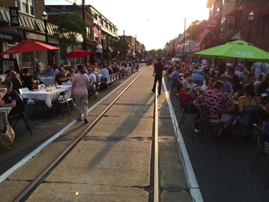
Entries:
{"type": "Polygon", "coordinates": [[[243,60],[251,62],[268,62],[269,53],[253,46],[244,40],[236,40],[228,42],[226,44],[208,48],[205,50],[198,51],[194,55],[226,59],[226,60],[243,60]]]}

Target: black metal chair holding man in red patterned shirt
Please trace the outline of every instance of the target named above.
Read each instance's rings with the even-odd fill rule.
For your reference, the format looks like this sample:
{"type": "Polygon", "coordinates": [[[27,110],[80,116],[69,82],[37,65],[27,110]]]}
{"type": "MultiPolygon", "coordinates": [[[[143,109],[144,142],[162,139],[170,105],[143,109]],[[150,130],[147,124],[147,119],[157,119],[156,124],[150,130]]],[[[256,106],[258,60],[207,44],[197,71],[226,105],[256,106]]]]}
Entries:
{"type": "MultiPolygon", "coordinates": [[[[202,135],[203,135],[204,127],[210,127],[210,128],[215,127],[217,129],[217,132],[216,132],[216,140],[217,140],[219,138],[218,133],[219,133],[220,127],[223,127],[223,124],[221,123],[222,113],[218,109],[215,109],[215,108],[209,107],[209,106],[205,106],[205,105],[197,105],[196,107],[200,111],[201,118],[198,120],[195,120],[194,125],[197,124],[197,125],[202,126],[202,135]],[[218,114],[216,119],[219,119],[219,121],[217,123],[210,122],[210,115],[211,115],[210,111],[214,111],[215,113],[218,114]]],[[[193,137],[194,137],[194,130],[192,133],[192,140],[193,140],[193,137]]]]}

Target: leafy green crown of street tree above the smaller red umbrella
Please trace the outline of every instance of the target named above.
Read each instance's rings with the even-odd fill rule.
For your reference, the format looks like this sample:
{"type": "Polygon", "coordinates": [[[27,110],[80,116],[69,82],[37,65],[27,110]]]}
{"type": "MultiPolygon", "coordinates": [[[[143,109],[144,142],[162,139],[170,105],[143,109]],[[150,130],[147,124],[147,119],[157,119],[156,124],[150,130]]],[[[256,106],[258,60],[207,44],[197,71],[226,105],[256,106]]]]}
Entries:
{"type": "MultiPolygon", "coordinates": [[[[58,24],[58,28],[54,29],[54,36],[58,40],[59,44],[63,48],[71,46],[74,49],[74,45],[78,42],[76,38],[78,34],[86,36],[86,27],[88,23],[82,21],[82,15],[80,12],[63,13],[61,15],[61,21],[58,24]]],[[[84,37],[83,37],[84,38],[84,37]]]]}

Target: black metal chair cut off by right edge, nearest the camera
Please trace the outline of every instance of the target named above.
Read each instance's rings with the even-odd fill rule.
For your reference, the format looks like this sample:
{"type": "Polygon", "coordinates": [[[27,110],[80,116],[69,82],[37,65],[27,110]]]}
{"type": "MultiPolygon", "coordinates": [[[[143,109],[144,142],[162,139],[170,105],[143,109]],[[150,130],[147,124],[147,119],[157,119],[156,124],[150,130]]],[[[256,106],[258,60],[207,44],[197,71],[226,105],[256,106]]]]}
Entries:
{"type": "MultiPolygon", "coordinates": [[[[253,172],[261,154],[265,158],[269,159],[269,142],[264,141],[264,135],[267,135],[269,137],[269,133],[264,131],[262,128],[260,128],[256,124],[254,124],[254,127],[258,130],[258,148],[257,149],[259,151],[259,154],[255,160],[254,165],[251,168],[251,172],[253,172]]],[[[267,189],[269,188],[269,181],[265,187],[267,189]]]]}

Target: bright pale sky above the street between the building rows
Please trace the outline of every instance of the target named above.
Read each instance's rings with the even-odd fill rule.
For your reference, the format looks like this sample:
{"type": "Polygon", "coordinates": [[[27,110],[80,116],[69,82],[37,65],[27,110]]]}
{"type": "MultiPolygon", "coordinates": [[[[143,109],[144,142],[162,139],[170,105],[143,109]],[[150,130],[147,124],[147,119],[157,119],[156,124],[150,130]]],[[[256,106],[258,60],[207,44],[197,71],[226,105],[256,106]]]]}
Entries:
{"type": "MultiPolygon", "coordinates": [[[[207,0],[135,0],[135,1],[90,1],[92,5],[118,28],[118,35],[137,35],[147,50],[164,48],[166,42],[184,32],[196,19],[208,19],[207,0]],[[160,3],[163,2],[163,3],[160,3]],[[173,11],[173,12],[172,12],[173,11]]],[[[45,5],[70,5],[75,0],[45,0],[45,5]]],[[[81,4],[82,0],[76,0],[81,4]]]]}

